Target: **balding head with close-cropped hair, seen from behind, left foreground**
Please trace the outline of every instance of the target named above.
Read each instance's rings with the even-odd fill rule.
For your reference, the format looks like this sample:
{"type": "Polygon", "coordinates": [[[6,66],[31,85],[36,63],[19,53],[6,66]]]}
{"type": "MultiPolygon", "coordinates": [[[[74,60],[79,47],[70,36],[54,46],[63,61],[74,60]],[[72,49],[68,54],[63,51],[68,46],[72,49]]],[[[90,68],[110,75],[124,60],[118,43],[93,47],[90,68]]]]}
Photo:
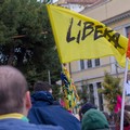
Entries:
{"type": "Polygon", "coordinates": [[[11,66],[0,66],[0,115],[23,113],[27,82],[23,74],[11,66]]]}

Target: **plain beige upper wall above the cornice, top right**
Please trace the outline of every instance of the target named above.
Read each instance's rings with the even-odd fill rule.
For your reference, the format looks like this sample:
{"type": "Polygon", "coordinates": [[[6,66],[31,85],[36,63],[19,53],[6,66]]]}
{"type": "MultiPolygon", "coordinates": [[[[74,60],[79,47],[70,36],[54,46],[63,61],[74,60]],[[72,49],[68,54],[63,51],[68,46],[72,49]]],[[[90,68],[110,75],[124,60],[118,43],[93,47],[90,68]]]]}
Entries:
{"type": "Polygon", "coordinates": [[[98,21],[106,21],[130,10],[130,0],[107,0],[93,8],[87,8],[81,14],[98,21]]]}

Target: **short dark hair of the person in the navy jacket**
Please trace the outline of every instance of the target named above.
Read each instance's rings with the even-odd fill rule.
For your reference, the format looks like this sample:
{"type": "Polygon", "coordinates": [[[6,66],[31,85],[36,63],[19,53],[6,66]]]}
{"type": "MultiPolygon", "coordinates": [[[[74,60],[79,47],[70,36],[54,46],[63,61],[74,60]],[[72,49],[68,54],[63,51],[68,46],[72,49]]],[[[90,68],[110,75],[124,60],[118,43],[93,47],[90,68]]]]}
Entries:
{"type": "Polygon", "coordinates": [[[48,81],[37,81],[35,84],[34,84],[34,91],[50,91],[52,89],[52,86],[49,84],[48,81]]]}

